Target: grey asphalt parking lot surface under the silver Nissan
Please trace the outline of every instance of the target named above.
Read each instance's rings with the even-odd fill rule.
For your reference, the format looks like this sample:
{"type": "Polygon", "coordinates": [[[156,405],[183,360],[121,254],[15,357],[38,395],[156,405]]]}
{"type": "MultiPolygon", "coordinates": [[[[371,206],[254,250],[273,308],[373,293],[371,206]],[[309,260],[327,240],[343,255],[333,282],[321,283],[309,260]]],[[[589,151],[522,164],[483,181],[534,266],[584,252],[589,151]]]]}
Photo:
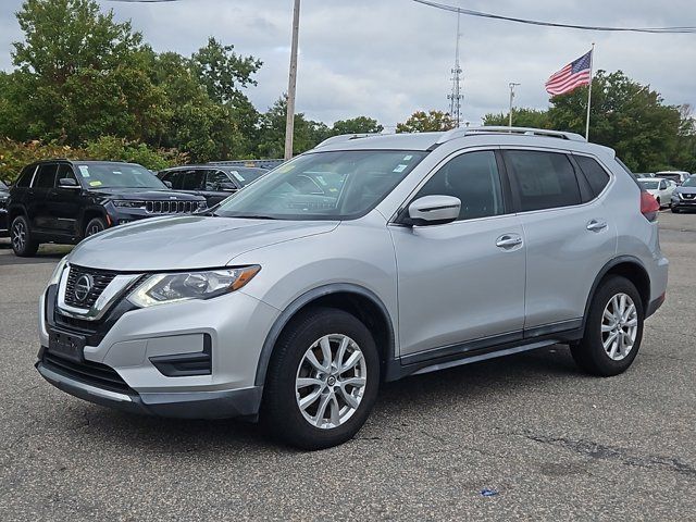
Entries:
{"type": "Polygon", "coordinates": [[[36,307],[69,249],[0,239],[0,520],[696,520],[696,214],[660,223],[668,299],[629,372],[584,376],[555,346],[410,377],[319,452],[50,386],[36,307]]]}

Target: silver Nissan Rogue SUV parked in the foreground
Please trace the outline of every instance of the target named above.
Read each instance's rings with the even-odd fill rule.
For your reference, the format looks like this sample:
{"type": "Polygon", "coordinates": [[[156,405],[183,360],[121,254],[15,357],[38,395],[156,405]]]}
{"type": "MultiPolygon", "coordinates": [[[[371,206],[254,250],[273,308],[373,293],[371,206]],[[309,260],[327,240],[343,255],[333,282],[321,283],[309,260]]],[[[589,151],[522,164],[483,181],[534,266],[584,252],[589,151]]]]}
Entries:
{"type": "Polygon", "coordinates": [[[557,343],[626,370],[664,300],[657,212],[570,133],[338,136],[203,214],[80,243],[41,297],[36,368],[100,405],[325,448],[382,382],[557,343]]]}

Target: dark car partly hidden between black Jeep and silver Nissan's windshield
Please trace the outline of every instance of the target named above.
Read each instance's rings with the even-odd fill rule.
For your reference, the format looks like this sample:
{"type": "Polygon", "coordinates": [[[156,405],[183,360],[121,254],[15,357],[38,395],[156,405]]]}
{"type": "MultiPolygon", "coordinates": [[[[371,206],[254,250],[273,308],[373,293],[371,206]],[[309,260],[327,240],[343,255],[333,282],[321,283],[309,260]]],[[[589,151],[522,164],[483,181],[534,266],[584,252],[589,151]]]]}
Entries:
{"type": "Polygon", "coordinates": [[[161,171],[158,177],[174,190],[203,196],[212,207],[266,172],[246,166],[185,165],[161,171]]]}

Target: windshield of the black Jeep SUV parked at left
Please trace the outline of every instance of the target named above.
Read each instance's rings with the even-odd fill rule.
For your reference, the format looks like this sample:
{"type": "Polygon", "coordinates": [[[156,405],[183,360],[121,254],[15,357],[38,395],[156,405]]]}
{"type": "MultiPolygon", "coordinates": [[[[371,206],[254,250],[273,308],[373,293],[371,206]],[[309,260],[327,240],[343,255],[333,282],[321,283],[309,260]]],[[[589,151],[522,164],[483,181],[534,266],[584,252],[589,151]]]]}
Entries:
{"type": "Polygon", "coordinates": [[[87,188],[166,189],[154,174],[134,163],[77,163],[77,173],[87,188]]]}

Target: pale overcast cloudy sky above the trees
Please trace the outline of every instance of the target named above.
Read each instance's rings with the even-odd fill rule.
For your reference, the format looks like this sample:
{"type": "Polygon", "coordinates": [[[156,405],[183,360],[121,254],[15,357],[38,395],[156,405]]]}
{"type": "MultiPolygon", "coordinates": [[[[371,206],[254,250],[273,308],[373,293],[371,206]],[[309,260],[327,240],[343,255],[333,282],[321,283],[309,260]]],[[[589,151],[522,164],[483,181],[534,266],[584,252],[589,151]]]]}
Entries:
{"type": "MultiPolygon", "coordinates": [[[[439,0],[447,3],[448,0],[439,0]]],[[[213,35],[264,65],[248,96],[265,110],[287,89],[291,0],[181,0],[126,4],[99,0],[130,18],[158,51],[190,54],[213,35]]],[[[499,14],[593,25],[696,25],[693,0],[449,0],[499,14]]],[[[0,2],[0,69],[11,70],[11,42],[22,38],[14,12],[0,2]]],[[[302,0],[298,110],[332,123],[372,115],[395,125],[419,109],[446,110],[456,15],[411,0],[302,0]]],[[[696,104],[696,35],[597,34],[462,17],[463,116],[474,124],[515,103],[545,108],[544,82],[597,44],[599,69],[623,70],[672,104],[696,104]]]]}

